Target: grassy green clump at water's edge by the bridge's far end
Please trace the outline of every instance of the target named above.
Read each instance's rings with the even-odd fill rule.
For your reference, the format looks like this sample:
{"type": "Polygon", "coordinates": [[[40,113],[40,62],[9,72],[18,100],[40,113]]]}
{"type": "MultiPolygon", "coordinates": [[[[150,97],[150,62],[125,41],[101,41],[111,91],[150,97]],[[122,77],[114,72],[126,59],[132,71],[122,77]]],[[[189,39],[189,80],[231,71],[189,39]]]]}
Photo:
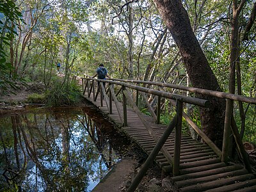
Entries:
{"type": "Polygon", "coordinates": [[[65,85],[56,80],[45,96],[47,106],[74,106],[82,99],[81,88],[76,81],[65,85]]]}

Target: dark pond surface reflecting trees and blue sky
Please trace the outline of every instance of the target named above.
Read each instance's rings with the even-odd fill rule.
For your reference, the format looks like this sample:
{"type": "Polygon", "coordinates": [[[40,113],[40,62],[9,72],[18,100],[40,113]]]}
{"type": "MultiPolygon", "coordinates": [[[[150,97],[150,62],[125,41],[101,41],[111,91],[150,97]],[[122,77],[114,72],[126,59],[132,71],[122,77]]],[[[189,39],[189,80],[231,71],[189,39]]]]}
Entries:
{"type": "Polygon", "coordinates": [[[91,191],[119,157],[86,109],[0,118],[0,191],[91,191]]]}

